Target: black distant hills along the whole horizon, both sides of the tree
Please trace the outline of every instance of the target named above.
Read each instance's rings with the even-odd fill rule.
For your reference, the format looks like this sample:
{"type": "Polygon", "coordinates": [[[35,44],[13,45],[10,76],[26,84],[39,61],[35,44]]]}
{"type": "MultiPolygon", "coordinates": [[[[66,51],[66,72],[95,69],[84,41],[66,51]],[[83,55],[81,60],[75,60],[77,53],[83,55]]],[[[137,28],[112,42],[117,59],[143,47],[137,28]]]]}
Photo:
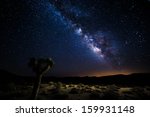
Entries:
{"type": "MultiPolygon", "coordinates": [[[[34,77],[19,76],[5,70],[0,70],[0,84],[7,82],[33,83],[34,77]]],[[[84,83],[99,85],[150,85],[150,73],[134,73],[130,75],[110,75],[102,77],[44,77],[43,83],[50,81],[63,83],[84,83]]]]}

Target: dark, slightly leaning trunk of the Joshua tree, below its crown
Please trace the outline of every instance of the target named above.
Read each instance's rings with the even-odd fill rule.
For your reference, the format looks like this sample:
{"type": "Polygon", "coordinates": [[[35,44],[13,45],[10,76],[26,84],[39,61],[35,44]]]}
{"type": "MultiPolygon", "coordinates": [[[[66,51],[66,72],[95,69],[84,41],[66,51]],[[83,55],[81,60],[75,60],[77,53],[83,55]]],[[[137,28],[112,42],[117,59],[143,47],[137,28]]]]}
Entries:
{"type": "Polygon", "coordinates": [[[38,97],[41,79],[42,79],[42,75],[37,75],[37,78],[35,79],[33,90],[32,90],[32,95],[31,95],[32,100],[36,100],[38,97]]]}

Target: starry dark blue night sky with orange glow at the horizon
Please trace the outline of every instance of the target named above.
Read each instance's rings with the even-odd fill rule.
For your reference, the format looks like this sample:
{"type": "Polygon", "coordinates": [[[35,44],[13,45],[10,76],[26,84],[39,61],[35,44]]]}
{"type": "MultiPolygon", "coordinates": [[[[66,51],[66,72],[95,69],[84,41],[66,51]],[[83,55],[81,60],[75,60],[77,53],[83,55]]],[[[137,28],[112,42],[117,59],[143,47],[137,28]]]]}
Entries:
{"type": "Polygon", "coordinates": [[[53,76],[150,72],[150,1],[1,0],[0,69],[31,75],[31,57],[53,76]]]}

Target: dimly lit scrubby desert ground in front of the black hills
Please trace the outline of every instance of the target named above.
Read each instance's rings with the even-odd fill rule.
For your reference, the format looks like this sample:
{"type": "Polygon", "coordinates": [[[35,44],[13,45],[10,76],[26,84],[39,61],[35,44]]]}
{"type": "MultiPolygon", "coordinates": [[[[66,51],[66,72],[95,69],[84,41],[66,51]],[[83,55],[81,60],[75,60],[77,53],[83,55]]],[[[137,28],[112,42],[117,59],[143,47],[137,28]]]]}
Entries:
{"type": "MultiPolygon", "coordinates": [[[[32,92],[31,85],[15,85],[10,83],[1,86],[0,99],[29,99],[32,92]]],[[[38,95],[39,100],[99,100],[99,99],[150,99],[150,87],[123,87],[116,85],[85,85],[64,84],[49,82],[41,84],[38,95]]]]}

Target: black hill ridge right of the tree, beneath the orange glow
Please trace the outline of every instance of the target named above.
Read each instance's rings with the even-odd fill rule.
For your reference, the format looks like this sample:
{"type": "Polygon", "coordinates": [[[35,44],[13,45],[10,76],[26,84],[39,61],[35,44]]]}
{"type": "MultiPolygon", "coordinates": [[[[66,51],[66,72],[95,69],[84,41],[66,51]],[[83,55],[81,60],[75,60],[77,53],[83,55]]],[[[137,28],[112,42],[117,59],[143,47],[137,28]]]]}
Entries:
{"type": "Polygon", "coordinates": [[[100,84],[100,85],[150,85],[150,73],[133,73],[130,75],[110,75],[102,77],[64,77],[64,78],[45,78],[45,81],[52,79],[66,83],[84,83],[84,84],[100,84]]]}

